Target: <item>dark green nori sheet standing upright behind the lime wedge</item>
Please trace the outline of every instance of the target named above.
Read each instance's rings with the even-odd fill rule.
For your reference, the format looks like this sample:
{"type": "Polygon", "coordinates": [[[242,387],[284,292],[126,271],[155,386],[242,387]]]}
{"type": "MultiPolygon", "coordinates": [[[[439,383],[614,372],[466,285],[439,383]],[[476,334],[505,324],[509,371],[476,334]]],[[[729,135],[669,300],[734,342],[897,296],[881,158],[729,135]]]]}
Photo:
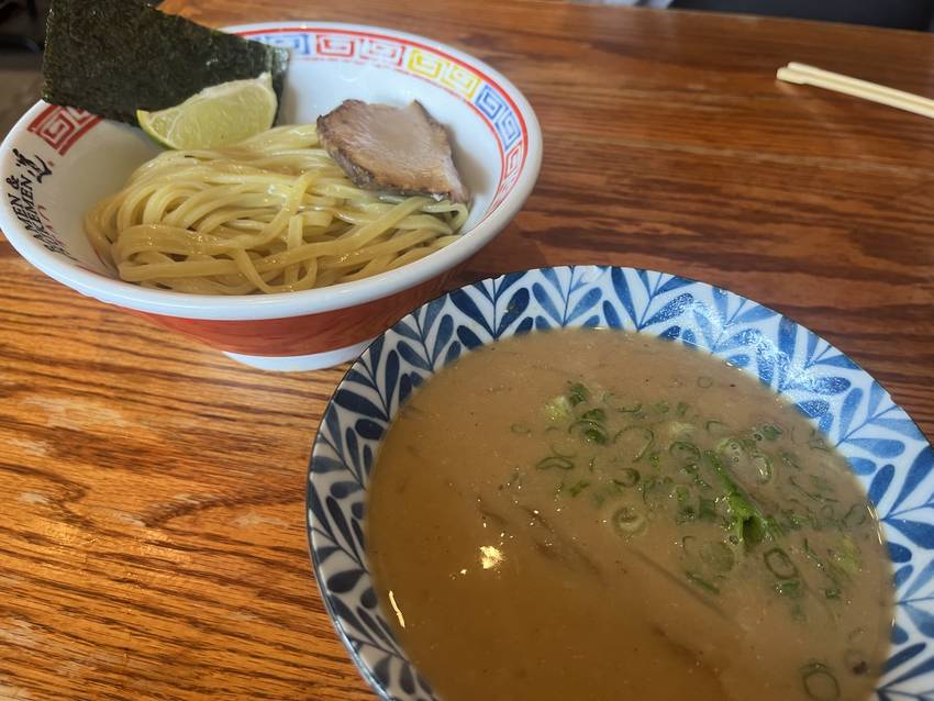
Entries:
{"type": "Polygon", "coordinates": [[[137,124],[136,110],[163,110],[265,71],[281,97],[288,60],[286,49],[165,14],[146,0],[53,0],[42,97],[137,124]]]}

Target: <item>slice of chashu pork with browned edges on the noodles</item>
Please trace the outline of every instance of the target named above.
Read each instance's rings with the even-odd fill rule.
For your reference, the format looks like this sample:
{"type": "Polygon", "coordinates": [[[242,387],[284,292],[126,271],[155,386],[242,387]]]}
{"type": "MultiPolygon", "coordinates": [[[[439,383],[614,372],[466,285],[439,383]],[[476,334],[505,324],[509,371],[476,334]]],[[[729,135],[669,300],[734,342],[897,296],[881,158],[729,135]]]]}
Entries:
{"type": "Polygon", "coordinates": [[[466,202],[444,126],[421,102],[397,108],[345,100],[318,118],[321,144],[354,185],[466,202]]]}

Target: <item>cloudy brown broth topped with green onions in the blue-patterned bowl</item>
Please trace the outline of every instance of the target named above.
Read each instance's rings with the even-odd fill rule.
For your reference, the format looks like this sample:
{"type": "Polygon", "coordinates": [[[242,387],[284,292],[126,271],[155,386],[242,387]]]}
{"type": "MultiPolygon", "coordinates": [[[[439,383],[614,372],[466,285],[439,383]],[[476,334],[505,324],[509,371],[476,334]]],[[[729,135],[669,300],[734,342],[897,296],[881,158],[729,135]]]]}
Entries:
{"type": "Polygon", "coordinates": [[[678,344],[471,353],[401,410],[370,489],[381,605],[444,701],[861,701],[888,648],[844,458],[678,344]]]}

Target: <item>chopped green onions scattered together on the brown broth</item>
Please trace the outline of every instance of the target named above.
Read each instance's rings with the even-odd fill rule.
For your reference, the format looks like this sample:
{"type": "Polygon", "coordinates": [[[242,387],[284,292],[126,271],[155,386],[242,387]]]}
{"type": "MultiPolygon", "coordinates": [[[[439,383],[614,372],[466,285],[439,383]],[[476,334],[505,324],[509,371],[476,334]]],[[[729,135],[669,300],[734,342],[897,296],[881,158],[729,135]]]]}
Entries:
{"type": "MultiPolygon", "coordinates": [[[[580,379],[589,381],[586,376],[580,379]]],[[[721,381],[701,376],[697,383],[707,389],[720,387],[721,381]]],[[[680,534],[685,547],[680,571],[699,589],[720,594],[721,588],[729,587],[724,582],[731,572],[736,574],[761,543],[758,553],[763,559],[750,561],[763,563],[756,566],[771,574],[768,586],[774,596],[788,601],[791,616],[804,620],[807,612],[811,617],[809,607],[819,604],[831,615],[837,614],[861,566],[861,553],[846,533],[870,523],[871,507],[859,500],[840,503],[834,483],[823,472],[802,470],[798,456],[782,449],[785,439],[797,435],[789,427],[768,423],[768,419],[756,425],[708,420],[703,414],[715,416],[716,407],[710,411],[677,400],[677,396],[656,396],[642,402],[630,397],[629,407],[619,407],[626,403],[623,398],[597,385],[571,380],[563,394],[545,407],[551,423],[540,425],[530,420],[507,425],[516,436],[545,435],[554,442],[552,454],[534,465],[533,472],[554,470],[551,478],[545,477],[543,488],[557,487],[557,499],[565,503],[583,496],[577,501],[612,514],[607,522],[620,536],[646,531],[656,518],[672,518],[678,524],[714,524],[707,532],[687,526],[680,534]],[[554,435],[549,436],[551,432],[554,435]],[[577,471],[571,475],[571,470],[577,471]],[[558,480],[560,485],[556,485],[558,480]],[[770,482],[778,485],[777,501],[756,486],[770,482]],[[638,492],[630,491],[634,489],[638,492]],[[632,505],[624,505],[627,503],[632,505]],[[683,535],[685,531],[707,536],[683,535]],[[820,537],[815,532],[827,538],[819,552],[802,537],[810,536],[813,542],[820,537]],[[815,564],[823,578],[813,571],[815,564]]],[[[812,432],[809,445],[833,449],[818,431],[812,432]]],[[[523,469],[527,480],[529,468],[523,469]]],[[[500,489],[514,489],[518,480],[500,489]]],[[[802,679],[809,696],[820,701],[836,699],[842,691],[833,672],[825,665],[808,661],[812,664],[803,668],[802,679]]],[[[841,669],[848,671],[849,666],[841,669]]]]}

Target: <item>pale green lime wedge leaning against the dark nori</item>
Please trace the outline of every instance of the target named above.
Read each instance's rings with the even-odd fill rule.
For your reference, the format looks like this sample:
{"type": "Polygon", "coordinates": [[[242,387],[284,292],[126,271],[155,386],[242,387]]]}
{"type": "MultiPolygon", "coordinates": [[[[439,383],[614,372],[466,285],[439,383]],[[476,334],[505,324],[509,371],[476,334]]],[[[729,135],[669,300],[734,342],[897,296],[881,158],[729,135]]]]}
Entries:
{"type": "Polygon", "coordinates": [[[242,142],[273,126],[276,92],[268,73],[204,88],[181,104],[136,111],[140,126],[167,148],[218,148],[242,142]]]}

